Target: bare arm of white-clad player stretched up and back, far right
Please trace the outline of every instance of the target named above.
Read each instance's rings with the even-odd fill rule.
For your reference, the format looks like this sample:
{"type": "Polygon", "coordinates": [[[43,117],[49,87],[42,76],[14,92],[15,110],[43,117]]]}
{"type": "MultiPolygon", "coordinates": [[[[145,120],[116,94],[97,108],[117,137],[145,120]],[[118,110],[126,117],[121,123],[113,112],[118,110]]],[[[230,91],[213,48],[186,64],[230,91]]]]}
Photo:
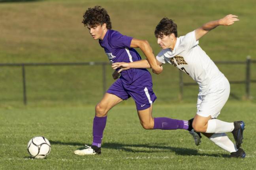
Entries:
{"type": "Polygon", "coordinates": [[[221,18],[219,20],[210,21],[201,26],[200,28],[196,29],[196,41],[198,41],[201,37],[203,37],[205,34],[207,34],[209,31],[213,30],[217,26],[223,25],[223,26],[230,26],[234,24],[235,21],[239,21],[236,15],[227,15],[224,18],[221,18]]]}

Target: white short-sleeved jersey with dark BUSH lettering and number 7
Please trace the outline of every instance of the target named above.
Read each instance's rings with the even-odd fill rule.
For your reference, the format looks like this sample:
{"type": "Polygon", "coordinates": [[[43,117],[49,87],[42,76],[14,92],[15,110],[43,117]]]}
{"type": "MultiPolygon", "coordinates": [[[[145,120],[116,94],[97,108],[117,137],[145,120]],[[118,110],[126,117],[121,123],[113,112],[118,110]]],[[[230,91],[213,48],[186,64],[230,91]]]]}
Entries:
{"type": "Polygon", "coordinates": [[[195,31],[177,38],[173,50],[162,50],[156,59],[170,63],[188,74],[199,85],[200,93],[207,93],[224,75],[196,41],[195,31]]]}

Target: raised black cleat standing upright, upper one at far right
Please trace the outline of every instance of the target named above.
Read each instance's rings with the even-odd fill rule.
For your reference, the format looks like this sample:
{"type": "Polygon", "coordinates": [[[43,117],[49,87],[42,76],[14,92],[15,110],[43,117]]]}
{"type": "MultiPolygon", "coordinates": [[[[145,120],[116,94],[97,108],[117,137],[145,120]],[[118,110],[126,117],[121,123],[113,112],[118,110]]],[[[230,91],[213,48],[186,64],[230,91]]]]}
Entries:
{"type": "Polygon", "coordinates": [[[240,148],[243,142],[243,130],[245,129],[245,122],[236,121],[234,122],[234,130],[232,131],[233,137],[235,139],[237,149],[240,148]]]}

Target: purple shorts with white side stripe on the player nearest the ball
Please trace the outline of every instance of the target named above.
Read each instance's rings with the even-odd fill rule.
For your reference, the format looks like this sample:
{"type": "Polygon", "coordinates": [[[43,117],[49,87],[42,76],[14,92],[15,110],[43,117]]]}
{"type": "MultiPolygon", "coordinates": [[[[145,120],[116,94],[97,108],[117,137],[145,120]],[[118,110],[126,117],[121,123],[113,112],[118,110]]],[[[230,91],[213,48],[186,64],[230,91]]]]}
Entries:
{"type": "Polygon", "coordinates": [[[140,111],[149,108],[156,100],[152,87],[151,74],[146,73],[129,85],[123,83],[122,78],[117,79],[109,87],[107,93],[115,94],[122,100],[132,97],[136,103],[137,110],[140,111]]]}

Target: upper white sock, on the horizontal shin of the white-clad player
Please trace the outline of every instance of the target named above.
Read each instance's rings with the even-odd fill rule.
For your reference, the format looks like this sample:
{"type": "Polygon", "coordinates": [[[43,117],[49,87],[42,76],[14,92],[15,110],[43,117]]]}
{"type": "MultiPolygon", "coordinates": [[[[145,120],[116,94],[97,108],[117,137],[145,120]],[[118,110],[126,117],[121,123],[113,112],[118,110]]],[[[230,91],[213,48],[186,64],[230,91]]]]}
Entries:
{"type": "Polygon", "coordinates": [[[208,126],[205,133],[225,133],[232,132],[234,123],[223,122],[218,119],[208,120],[208,126]]]}

